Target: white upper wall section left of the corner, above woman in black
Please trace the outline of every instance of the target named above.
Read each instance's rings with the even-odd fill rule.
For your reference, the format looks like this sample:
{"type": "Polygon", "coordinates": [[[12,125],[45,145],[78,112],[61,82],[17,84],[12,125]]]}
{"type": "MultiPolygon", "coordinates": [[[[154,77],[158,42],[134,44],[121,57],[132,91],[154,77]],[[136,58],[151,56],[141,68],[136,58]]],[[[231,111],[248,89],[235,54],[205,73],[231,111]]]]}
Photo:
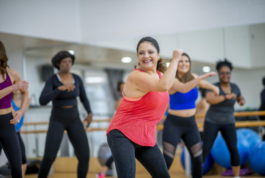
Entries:
{"type": "Polygon", "coordinates": [[[0,31],[80,42],[79,0],[0,0],[0,31]]]}

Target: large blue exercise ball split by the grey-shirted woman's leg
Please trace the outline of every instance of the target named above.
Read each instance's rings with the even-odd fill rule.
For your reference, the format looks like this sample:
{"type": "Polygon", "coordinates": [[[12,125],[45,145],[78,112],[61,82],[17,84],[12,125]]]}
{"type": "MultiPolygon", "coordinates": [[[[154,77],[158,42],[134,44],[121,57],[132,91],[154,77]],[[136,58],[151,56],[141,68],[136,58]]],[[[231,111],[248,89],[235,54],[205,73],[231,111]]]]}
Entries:
{"type": "MultiPolygon", "coordinates": [[[[242,166],[248,161],[249,143],[242,133],[237,133],[236,138],[240,165],[242,166]]],[[[222,134],[219,133],[217,135],[210,153],[217,164],[225,168],[231,168],[230,152],[222,134]]]]}

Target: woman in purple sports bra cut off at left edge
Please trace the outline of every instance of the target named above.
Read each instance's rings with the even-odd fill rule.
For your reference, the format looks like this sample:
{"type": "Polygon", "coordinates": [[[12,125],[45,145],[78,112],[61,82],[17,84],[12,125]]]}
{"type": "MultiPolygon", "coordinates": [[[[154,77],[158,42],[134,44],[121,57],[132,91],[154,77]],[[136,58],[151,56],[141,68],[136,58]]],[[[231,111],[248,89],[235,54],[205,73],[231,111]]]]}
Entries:
{"type": "Polygon", "coordinates": [[[21,81],[18,72],[9,68],[6,49],[0,41],[0,144],[8,159],[11,176],[22,178],[21,151],[15,124],[20,122],[28,102],[28,82],[21,81]],[[13,115],[11,112],[11,95],[13,91],[21,92],[21,107],[13,115]]]}

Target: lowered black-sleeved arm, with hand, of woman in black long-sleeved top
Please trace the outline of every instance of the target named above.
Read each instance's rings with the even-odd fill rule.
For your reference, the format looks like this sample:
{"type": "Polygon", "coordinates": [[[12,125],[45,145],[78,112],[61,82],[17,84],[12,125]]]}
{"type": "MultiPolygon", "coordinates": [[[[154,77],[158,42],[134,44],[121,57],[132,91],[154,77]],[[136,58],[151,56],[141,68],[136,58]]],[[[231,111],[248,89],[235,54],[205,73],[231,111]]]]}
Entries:
{"type": "Polygon", "coordinates": [[[83,82],[82,82],[80,77],[78,77],[78,78],[79,78],[79,81],[80,81],[80,88],[79,88],[80,89],[80,95],[79,95],[79,97],[80,97],[81,102],[83,103],[83,106],[85,107],[85,109],[87,111],[87,114],[88,114],[88,116],[84,120],[84,121],[87,122],[87,125],[86,125],[86,128],[87,128],[87,127],[89,127],[89,124],[92,121],[92,112],[91,112],[91,109],[90,109],[89,101],[88,101],[88,99],[86,97],[86,91],[85,91],[83,82]]]}

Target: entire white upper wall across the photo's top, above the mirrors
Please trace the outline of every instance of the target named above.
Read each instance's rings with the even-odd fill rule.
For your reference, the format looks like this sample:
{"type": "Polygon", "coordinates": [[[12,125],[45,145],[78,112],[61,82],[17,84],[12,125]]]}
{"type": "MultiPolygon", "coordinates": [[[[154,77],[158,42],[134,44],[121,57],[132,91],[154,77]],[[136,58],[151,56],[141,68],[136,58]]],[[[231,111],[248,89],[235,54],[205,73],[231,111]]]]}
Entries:
{"type": "Polygon", "coordinates": [[[262,23],[264,7],[263,0],[0,0],[0,31],[95,44],[262,23]]]}

